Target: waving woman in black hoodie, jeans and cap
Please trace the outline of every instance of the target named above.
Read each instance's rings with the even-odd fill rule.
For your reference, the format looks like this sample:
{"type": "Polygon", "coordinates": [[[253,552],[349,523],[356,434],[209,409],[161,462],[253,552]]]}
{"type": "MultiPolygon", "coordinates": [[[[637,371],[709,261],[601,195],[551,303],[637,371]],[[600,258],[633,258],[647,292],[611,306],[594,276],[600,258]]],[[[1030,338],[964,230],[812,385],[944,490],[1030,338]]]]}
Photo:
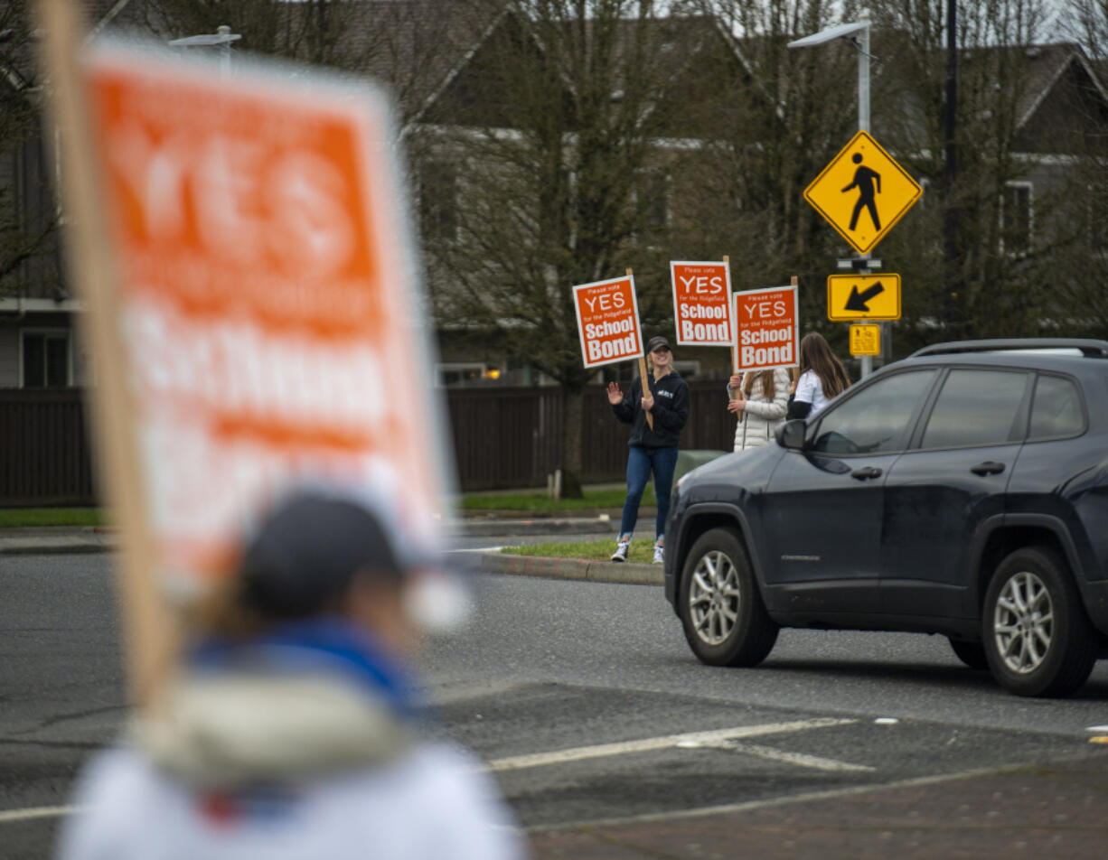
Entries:
{"type": "Polygon", "coordinates": [[[653,472],[654,495],[658,500],[654,561],[660,563],[664,559],[669,491],[674,484],[674,470],[677,468],[677,439],[689,416],[689,386],[673,369],[674,355],[669,351],[669,341],[660,334],[650,338],[646,352],[646,361],[650,367],[647,379],[650,390],[648,397],[640,396],[643,383],[638,376],[632,382],[626,396],[619,385],[608,383],[612,411],[624,424],[632,425],[627,443],[630,446],[627,454],[627,499],[624,501],[619,539],[612,560],[627,560],[627,550],[638,520],[638,502],[653,472]],[[647,413],[654,416],[653,428],[647,424],[647,413]]]}

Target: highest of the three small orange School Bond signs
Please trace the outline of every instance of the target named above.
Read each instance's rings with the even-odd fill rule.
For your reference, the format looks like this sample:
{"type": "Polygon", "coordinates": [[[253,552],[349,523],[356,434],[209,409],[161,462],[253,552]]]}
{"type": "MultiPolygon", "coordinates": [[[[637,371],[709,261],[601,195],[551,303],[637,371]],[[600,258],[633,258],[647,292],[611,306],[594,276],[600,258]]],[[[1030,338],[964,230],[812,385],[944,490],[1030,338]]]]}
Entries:
{"type": "Polygon", "coordinates": [[[731,272],[726,262],[669,262],[677,343],[729,346],[731,272]]]}

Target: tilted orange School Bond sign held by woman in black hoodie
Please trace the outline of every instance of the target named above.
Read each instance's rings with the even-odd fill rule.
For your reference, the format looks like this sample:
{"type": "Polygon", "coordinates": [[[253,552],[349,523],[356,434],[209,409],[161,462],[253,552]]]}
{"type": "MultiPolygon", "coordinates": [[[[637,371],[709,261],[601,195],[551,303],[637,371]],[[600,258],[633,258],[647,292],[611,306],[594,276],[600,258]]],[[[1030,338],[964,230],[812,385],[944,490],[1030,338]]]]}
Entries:
{"type": "Polygon", "coordinates": [[[573,303],[586,367],[643,355],[633,276],[574,287],[573,303]]]}

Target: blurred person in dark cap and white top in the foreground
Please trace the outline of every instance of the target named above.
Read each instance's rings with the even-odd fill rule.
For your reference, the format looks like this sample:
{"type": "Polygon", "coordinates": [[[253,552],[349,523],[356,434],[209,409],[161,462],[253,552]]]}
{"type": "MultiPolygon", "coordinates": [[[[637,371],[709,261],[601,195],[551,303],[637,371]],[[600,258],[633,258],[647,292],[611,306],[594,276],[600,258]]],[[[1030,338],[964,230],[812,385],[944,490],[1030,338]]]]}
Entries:
{"type": "Polygon", "coordinates": [[[406,669],[416,558],[381,505],[302,490],[249,536],[164,700],[82,776],[61,860],[501,860],[492,778],[406,669]]]}

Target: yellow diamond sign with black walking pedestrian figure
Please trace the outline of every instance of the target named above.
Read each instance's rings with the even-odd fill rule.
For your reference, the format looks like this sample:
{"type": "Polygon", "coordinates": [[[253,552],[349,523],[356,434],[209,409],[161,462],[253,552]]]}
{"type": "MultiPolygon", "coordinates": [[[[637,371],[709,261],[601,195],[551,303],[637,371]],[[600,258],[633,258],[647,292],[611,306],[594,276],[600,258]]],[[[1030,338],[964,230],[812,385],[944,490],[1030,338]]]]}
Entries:
{"type": "Polygon", "coordinates": [[[804,189],[804,199],[859,253],[869,253],[923,189],[866,132],[855,134],[804,189]]]}

